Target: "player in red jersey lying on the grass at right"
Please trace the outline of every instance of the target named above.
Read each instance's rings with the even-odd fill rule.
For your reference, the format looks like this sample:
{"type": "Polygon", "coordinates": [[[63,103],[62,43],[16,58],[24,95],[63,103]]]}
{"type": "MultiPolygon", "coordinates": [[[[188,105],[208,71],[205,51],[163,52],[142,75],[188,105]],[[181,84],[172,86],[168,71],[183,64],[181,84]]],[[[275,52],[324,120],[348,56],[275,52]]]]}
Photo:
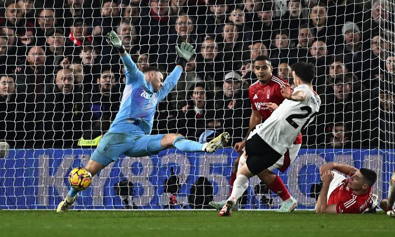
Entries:
{"type": "Polygon", "coordinates": [[[372,201],[377,205],[377,196],[372,191],[377,174],[372,169],[356,169],[330,162],[321,166],[319,172],[323,184],[316,203],[316,213],[363,213],[372,201]],[[332,169],[350,175],[350,178],[332,169]]]}

